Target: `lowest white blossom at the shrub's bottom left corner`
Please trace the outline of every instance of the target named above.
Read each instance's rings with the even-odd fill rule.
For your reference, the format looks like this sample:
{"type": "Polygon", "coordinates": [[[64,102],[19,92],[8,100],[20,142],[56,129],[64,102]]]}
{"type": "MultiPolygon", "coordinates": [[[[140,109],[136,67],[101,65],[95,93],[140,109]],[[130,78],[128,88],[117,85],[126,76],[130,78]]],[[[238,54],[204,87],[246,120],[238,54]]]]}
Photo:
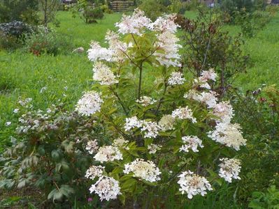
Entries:
{"type": "Polygon", "coordinates": [[[99,195],[101,201],[106,199],[117,199],[117,195],[122,194],[120,192],[119,182],[114,178],[101,176],[97,182],[90,187],[90,193],[96,193],[99,195]]]}

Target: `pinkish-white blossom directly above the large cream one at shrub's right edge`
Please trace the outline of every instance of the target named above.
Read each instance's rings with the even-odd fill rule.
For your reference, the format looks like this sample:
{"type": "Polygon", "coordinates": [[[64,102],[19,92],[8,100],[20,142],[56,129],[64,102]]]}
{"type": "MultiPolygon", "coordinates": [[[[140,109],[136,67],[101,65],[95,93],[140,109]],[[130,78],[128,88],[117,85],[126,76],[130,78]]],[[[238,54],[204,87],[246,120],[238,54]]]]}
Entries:
{"type": "Polygon", "coordinates": [[[218,117],[216,122],[230,123],[234,117],[234,109],[229,102],[219,102],[213,108],[213,114],[218,117]]]}

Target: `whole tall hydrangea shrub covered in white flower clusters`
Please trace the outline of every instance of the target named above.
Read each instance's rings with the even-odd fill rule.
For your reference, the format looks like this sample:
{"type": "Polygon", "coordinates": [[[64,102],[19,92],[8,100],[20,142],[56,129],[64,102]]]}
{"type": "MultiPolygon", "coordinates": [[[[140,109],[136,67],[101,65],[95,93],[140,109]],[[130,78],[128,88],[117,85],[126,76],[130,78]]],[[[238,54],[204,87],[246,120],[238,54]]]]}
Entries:
{"type": "Polygon", "coordinates": [[[108,48],[92,41],[88,50],[94,91],[83,95],[76,111],[98,118],[105,130],[106,141],[88,144],[96,166],[85,174],[101,200],[136,200],[150,187],[166,196],[174,187],[192,199],[221,179],[240,179],[241,162],[231,157],[245,145],[241,127],[231,123],[229,101],[211,90],[213,69],[185,77],[175,18],[152,22],[135,10],[115,24],[117,32],[108,31],[108,48]]]}

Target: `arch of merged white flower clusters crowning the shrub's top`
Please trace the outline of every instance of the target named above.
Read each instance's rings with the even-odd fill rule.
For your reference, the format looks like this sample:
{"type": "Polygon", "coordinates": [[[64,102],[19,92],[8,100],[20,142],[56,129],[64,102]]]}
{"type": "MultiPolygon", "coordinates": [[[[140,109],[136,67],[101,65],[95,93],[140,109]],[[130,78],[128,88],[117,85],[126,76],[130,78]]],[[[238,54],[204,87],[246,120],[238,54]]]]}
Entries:
{"type": "MultiPolygon", "coordinates": [[[[174,22],[173,15],[165,15],[159,17],[155,22],[151,22],[148,17],[144,16],[143,11],[136,9],[132,15],[123,15],[115,26],[119,28],[118,33],[122,34],[142,36],[146,31],[155,32],[157,40],[154,42],[155,52],[152,52],[152,56],[155,56],[161,65],[181,65],[178,54],[181,45],[178,45],[178,38],[175,34],[178,26],[174,22]]],[[[91,43],[91,49],[87,51],[90,61],[103,60],[122,63],[125,59],[133,57],[134,54],[129,53],[133,43],[120,41],[120,36],[112,31],[108,31],[106,40],[109,44],[108,48],[101,47],[98,42],[91,43]]]]}

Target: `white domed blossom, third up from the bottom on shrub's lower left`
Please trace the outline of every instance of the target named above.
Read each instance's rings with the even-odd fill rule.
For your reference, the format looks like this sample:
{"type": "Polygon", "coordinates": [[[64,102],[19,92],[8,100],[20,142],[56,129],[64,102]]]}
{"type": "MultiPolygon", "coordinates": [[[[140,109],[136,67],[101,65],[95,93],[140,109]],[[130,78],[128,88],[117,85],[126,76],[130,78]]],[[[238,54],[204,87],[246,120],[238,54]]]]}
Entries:
{"type": "Polygon", "coordinates": [[[96,161],[101,163],[113,160],[123,160],[122,153],[115,146],[102,146],[94,156],[96,161]]]}

